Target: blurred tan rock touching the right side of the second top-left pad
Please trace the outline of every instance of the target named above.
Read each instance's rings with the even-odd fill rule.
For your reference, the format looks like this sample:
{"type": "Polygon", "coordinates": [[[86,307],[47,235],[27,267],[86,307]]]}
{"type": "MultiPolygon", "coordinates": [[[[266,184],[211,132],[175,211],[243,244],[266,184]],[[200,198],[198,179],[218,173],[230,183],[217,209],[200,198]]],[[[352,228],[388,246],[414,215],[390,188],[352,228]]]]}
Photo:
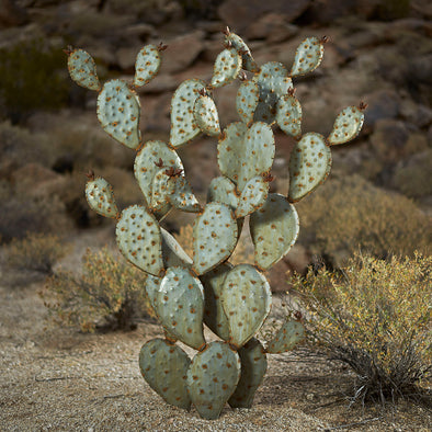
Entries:
{"type": "Polygon", "coordinates": [[[161,71],[163,73],[181,71],[191,66],[204,49],[204,32],[200,30],[178,36],[167,41],[167,45],[161,71]]]}

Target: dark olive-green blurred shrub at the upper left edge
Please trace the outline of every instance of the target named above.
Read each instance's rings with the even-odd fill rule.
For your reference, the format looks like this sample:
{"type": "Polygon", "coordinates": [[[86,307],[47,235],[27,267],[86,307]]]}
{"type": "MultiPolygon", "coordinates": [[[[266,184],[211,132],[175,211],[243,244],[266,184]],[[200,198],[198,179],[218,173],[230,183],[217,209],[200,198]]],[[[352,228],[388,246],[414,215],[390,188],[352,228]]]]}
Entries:
{"type": "Polygon", "coordinates": [[[65,79],[65,55],[42,38],[0,49],[0,100],[13,123],[34,110],[66,104],[70,82],[65,79]]]}

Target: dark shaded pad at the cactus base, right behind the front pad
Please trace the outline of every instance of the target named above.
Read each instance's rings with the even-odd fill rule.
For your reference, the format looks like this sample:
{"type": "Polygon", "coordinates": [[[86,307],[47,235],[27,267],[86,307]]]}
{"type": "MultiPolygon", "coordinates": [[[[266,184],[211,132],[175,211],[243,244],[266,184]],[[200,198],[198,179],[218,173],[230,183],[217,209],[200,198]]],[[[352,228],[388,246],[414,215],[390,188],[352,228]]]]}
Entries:
{"type": "Polygon", "coordinates": [[[264,378],[268,360],[264,346],[254,338],[241,346],[238,353],[241,361],[240,380],[228,403],[232,408],[251,408],[255,391],[264,378]]]}

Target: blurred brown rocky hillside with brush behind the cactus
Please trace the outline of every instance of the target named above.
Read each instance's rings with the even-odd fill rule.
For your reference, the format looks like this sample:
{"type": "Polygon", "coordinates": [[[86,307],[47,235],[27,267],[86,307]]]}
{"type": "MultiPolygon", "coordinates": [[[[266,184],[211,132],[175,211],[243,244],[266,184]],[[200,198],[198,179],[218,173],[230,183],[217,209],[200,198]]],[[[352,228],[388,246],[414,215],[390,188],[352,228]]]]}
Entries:
{"type": "MultiPolygon", "coordinates": [[[[64,48],[89,52],[104,81],[132,79],[145,44],[168,44],[159,76],[140,90],[144,139],[168,140],[174,89],[212,77],[228,25],[259,65],[288,69],[305,37],[329,37],[321,66],[294,82],[304,133],[328,135],[340,110],[368,104],[361,135],[334,148],[330,178],[297,205],[300,238],[274,269],[273,288],[286,289],[287,271],[316,261],[336,268],[359,249],[379,258],[429,253],[431,18],[428,0],[0,0],[0,241],[42,232],[77,242],[84,235],[81,254],[87,245],[112,242],[112,220],[84,200],[89,169],[114,186],[120,207],[141,201],[134,151],[102,130],[96,93],[70,80],[64,48]]],[[[223,127],[238,120],[237,87],[215,92],[223,127]]],[[[293,141],[275,134],[273,191],[286,194],[293,141]]],[[[205,202],[218,175],[216,140],[198,138],[179,152],[205,202]]],[[[189,223],[175,214],[166,225],[179,231],[189,223]]]]}

